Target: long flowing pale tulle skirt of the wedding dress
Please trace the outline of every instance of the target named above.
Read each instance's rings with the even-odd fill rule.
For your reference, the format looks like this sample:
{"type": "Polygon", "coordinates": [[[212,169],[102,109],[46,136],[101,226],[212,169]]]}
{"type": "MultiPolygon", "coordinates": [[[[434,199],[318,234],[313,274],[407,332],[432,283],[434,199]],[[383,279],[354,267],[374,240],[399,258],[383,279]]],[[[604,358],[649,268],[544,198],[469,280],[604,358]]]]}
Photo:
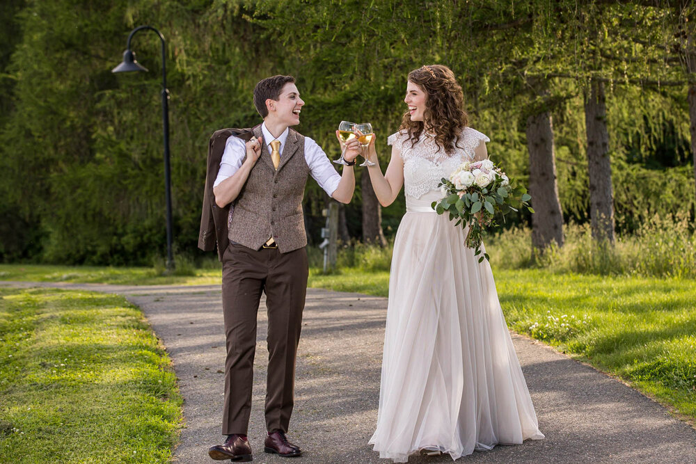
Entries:
{"type": "Polygon", "coordinates": [[[395,462],[425,447],[457,459],[544,438],[491,267],[431,201],[407,198],[394,243],[370,444],[395,462]]]}

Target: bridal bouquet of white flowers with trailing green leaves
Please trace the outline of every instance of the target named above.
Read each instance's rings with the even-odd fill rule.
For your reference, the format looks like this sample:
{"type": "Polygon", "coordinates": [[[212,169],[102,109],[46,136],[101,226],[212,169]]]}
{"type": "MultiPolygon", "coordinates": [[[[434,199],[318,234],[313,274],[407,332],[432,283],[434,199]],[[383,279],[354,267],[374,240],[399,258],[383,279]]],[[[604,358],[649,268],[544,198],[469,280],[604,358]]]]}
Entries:
{"type": "MultiPolygon", "coordinates": [[[[481,242],[484,234],[498,224],[496,214],[500,213],[505,221],[505,215],[510,211],[519,211],[522,207],[530,212],[531,195],[523,186],[513,186],[512,181],[498,168],[493,161],[464,161],[450,174],[449,179],[443,177],[438,185],[443,194],[440,201],[432,203],[437,214],[450,214],[450,221],[457,218],[462,227],[469,226],[466,235],[466,246],[475,248],[475,256],[481,254],[481,242]]],[[[490,259],[488,253],[479,258],[490,259]]]]}

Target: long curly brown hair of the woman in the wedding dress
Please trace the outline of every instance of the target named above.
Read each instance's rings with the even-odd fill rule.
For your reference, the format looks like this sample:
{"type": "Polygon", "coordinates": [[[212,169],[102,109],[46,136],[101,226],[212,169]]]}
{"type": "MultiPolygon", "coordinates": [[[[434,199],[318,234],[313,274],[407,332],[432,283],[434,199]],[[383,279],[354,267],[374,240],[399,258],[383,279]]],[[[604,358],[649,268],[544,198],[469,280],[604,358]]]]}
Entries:
{"type": "Polygon", "coordinates": [[[412,121],[411,114],[406,111],[400,129],[408,132],[412,145],[416,145],[424,130],[432,132],[438,147],[452,154],[461,130],[468,124],[464,94],[457,79],[454,79],[454,72],[445,65],[423,65],[409,72],[409,81],[425,92],[425,120],[412,121]]]}

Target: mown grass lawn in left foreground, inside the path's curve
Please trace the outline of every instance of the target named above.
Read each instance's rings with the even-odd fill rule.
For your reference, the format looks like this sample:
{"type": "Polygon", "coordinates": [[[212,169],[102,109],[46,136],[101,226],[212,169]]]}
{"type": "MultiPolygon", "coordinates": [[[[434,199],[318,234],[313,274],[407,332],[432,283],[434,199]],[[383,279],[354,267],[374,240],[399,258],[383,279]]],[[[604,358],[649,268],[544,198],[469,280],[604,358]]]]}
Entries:
{"type": "Polygon", "coordinates": [[[0,463],[168,463],[181,404],[124,298],[0,288],[0,463]]]}

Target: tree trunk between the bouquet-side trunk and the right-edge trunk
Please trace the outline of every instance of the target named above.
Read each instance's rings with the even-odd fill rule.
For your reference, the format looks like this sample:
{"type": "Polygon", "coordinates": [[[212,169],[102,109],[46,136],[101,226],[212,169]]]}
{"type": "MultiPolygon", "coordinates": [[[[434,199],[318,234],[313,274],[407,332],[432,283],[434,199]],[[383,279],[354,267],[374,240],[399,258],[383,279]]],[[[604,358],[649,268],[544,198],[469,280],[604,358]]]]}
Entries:
{"type": "Polygon", "coordinates": [[[591,81],[590,86],[590,95],[585,94],[585,127],[592,238],[614,243],[614,193],[611,184],[604,83],[591,81]]]}

